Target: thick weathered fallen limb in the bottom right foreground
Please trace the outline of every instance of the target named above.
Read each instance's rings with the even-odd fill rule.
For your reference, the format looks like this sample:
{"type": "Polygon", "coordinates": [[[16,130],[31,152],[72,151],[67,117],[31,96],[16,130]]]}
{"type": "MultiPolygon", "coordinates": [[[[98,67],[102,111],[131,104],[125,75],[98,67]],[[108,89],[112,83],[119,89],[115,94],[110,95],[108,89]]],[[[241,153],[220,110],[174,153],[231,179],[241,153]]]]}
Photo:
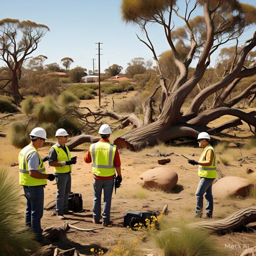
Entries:
{"type": "Polygon", "coordinates": [[[189,224],[190,227],[206,228],[212,233],[226,234],[241,230],[247,224],[256,221],[256,206],[239,210],[222,220],[202,221],[189,224]]]}

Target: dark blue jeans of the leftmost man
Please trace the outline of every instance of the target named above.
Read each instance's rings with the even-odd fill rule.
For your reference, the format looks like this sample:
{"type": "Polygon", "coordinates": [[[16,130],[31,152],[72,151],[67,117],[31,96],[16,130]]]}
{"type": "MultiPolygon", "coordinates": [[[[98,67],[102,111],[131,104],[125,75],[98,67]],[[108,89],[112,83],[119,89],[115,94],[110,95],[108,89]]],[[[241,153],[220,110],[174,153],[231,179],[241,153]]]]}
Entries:
{"type": "Polygon", "coordinates": [[[24,187],[26,198],[25,225],[31,227],[38,241],[42,240],[41,218],[43,217],[43,187],[24,187]]]}

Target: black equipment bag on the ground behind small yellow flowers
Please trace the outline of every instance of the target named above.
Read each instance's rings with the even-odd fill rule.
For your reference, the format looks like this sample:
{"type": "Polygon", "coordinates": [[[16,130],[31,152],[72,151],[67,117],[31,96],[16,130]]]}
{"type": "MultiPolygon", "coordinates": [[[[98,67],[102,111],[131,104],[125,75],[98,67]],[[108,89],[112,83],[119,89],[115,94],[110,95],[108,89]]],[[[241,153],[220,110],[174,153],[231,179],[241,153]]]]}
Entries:
{"type": "Polygon", "coordinates": [[[146,227],[146,219],[152,221],[151,216],[156,216],[156,213],[152,213],[150,211],[127,211],[124,214],[124,227],[129,226],[130,228],[134,228],[134,224],[142,223],[146,227]]]}

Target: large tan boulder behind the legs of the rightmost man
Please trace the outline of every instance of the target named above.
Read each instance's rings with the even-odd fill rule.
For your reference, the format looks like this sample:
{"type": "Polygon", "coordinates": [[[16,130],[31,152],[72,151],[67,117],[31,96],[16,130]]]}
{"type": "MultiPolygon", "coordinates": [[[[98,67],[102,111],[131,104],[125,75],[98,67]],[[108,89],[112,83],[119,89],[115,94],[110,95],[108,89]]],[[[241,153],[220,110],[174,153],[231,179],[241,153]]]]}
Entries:
{"type": "Polygon", "coordinates": [[[213,184],[212,192],[214,198],[224,198],[228,196],[246,196],[253,188],[253,183],[249,179],[227,176],[219,179],[213,184]]]}

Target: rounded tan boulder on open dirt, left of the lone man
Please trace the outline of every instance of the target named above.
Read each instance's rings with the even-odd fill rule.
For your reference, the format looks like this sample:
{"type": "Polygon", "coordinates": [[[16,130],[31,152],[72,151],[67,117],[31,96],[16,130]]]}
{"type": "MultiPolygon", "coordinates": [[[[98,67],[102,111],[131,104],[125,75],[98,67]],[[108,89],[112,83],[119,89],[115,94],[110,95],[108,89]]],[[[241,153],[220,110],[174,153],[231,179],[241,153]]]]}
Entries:
{"type": "Polygon", "coordinates": [[[142,186],[147,188],[159,188],[171,190],[178,182],[178,174],[167,167],[158,167],[147,170],[140,178],[142,186]]]}

